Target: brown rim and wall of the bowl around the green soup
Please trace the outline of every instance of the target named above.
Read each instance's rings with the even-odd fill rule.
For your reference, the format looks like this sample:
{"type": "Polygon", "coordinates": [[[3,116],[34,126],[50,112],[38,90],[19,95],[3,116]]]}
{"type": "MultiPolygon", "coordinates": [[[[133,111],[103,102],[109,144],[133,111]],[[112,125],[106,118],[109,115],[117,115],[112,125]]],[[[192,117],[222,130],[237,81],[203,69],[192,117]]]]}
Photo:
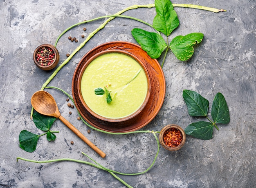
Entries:
{"type": "Polygon", "coordinates": [[[147,102],[148,102],[148,98],[150,96],[150,90],[151,90],[151,84],[150,84],[150,78],[149,78],[149,74],[148,74],[148,71],[146,69],[146,67],[144,66],[144,64],[141,62],[141,60],[139,58],[137,58],[135,55],[132,55],[128,52],[125,52],[125,51],[117,51],[117,50],[105,50],[105,51],[102,51],[102,52],[99,52],[97,53],[96,55],[94,55],[93,57],[91,57],[90,59],[88,59],[88,61],[86,61],[86,63],[84,64],[81,72],[79,73],[79,76],[78,76],[78,83],[79,85],[79,99],[80,101],[82,101],[83,103],[83,106],[85,107],[85,109],[90,113],[92,114],[92,116],[96,117],[96,118],[99,118],[101,120],[104,120],[104,121],[108,121],[108,122],[123,122],[123,121],[126,121],[126,120],[129,120],[131,118],[134,118],[135,116],[137,116],[143,109],[144,107],[146,106],[147,102]],[[126,117],[122,117],[122,118],[106,118],[106,117],[103,117],[103,116],[100,116],[99,114],[96,114],[94,111],[92,111],[92,109],[90,109],[90,107],[88,107],[88,105],[85,103],[85,101],[83,100],[83,96],[81,94],[81,79],[82,79],[82,76],[83,76],[83,73],[85,71],[85,69],[88,67],[88,65],[94,60],[96,59],[97,57],[101,56],[101,55],[104,55],[104,54],[109,54],[109,53],[121,53],[121,54],[124,54],[124,55],[127,55],[129,57],[132,57],[133,59],[135,59],[135,61],[137,61],[140,66],[144,69],[144,72],[146,73],[146,77],[147,77],[147,82],[148,82],[148,90],[147,90],[147,94],[146,94],[146,98],[144,100],[144,102],[142,103],[142,105],[139,107],[139,109],[137,109],[137,111],[135,111],[134,113],[130,114],[129,116],[126,116],[126,117]]]}

